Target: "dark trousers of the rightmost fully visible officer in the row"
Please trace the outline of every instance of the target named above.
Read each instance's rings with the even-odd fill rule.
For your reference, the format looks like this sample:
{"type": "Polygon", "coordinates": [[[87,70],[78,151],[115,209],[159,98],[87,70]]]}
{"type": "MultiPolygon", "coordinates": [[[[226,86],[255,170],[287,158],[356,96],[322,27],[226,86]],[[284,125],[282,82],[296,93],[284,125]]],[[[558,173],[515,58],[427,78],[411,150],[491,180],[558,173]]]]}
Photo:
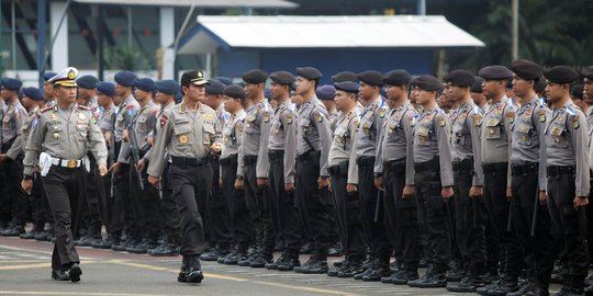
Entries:
{"type": "Polygon", "coordinates": [[[563,239],[560,255],[563,274],[582,287],[589,267],[589,247],[585,209],[574,209],[573,205],[574,172],[574,167],[548,167],[547,193],[552,227],[563,239]]]}

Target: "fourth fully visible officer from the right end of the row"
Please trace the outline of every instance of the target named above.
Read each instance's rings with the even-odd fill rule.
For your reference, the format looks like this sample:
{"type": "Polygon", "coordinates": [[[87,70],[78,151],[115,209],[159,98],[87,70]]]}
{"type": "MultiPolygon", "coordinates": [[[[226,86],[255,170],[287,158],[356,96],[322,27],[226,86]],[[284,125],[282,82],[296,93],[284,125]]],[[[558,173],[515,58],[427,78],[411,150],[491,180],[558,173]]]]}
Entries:
{"type": "Polygon", "coordinates": [[[474,77],[467,70],[448,73],[449,95],[458,104],[451,121],[452,168],[455,179],[456,242],[468,274],[447,286],[451,292],[474,292],[483,285],[485,262],[485,216],[482,200],[482,159],[480,125],[482,112],[471,100],[474,77]]]}

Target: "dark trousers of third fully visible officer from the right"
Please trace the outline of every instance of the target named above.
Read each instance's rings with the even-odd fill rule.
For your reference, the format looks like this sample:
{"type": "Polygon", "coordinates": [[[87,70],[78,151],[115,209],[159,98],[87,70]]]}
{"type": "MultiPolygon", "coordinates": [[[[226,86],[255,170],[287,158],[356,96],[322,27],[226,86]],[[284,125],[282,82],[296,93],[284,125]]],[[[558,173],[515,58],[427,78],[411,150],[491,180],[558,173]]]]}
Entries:
{"type": "MultiPolygon", "coordinates": [[[[488,225],[493,230],[492,232],[496,234],[494,237],[497,242],[500,241],[499,250],[492,250],[492,252],[501,255],[501,273],[516,278],[523,265],[523,250],[514,228],[507,229],[511,207],[511,202],[506,198],[508,163],[488,163],[483,166],[483,171],[484,205],[489,215],[488,225]]],[[[486,231],[489,227],[486,227],[486,231]]],[[[494,244],[497,243],[494,242],[494,244]]],[[[489,261],[492,252],[488,251],[489,261]]]]}

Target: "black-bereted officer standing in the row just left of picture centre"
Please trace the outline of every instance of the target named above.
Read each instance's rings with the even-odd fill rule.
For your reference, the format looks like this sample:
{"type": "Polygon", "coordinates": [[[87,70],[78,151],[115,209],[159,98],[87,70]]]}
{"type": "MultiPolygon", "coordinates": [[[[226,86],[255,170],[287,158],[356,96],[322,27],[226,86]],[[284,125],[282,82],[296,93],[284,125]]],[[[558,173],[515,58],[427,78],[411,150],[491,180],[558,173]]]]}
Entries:
{"type": "Polygon", "coordinates": [[[290,101],[290,88],[295,78],[287,71],[270,75],[271,99],[278,107],[271,118],[268,145],[270,158],[270,189],[273,204],[271,210],[278,221],[278,237],[283,242],[282,254],[266,267],[269,270],[292,271],[300,266],[301,223],[294,207],[294,173],[296,159],[296,112],[290,101]]]}

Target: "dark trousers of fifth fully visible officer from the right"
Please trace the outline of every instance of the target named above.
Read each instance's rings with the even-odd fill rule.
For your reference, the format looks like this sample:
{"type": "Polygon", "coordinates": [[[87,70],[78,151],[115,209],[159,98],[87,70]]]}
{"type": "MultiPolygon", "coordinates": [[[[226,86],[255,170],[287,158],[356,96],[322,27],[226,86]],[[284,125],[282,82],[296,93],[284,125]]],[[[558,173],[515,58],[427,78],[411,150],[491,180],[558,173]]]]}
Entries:
{"type": "Polygon", "coordinates": [[[447,224],[448,204],[440,192],[443,187],[438,161],[438,157],[435,157],[426,162],[414,163],[414,183],[424,254],[438,272],[445,272],[451,258],[451,242],[447,224]]]}

